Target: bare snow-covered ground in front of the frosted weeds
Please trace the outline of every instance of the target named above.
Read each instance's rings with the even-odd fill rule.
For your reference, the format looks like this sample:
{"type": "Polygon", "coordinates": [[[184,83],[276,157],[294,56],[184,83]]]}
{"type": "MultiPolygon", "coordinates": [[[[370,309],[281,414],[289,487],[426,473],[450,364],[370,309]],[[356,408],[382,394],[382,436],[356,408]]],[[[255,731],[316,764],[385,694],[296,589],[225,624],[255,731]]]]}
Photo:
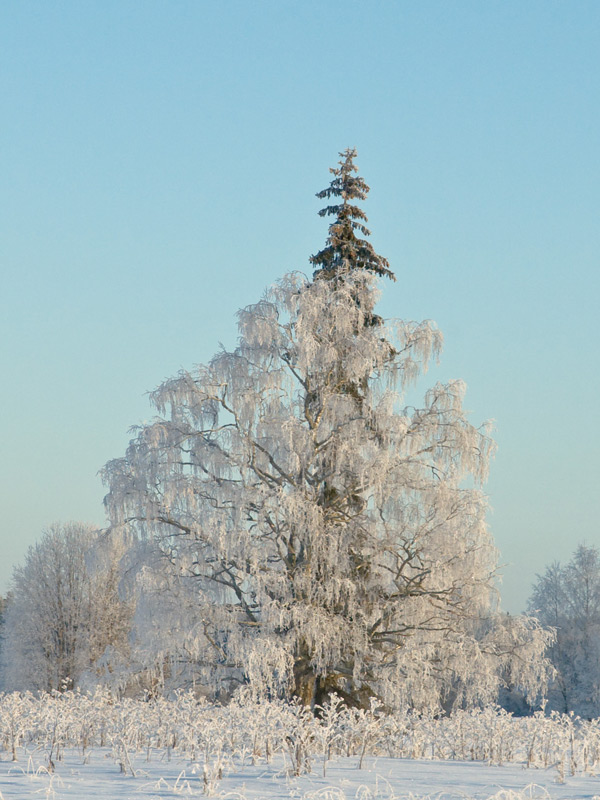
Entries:
{"type": "MultiPolygon", "coordinates": [[[[121,774],[110,748],[65,751],[54,772],[46,768],[47,753],[20,750],[19,760],[0,763],[2,800],[173,800],[207,794],[229,800],[600,800],[600,778],[565,776],[556,769],[525,769],[517,764],[488,766],[477,762],[338,758],[323,764],[315,759],[310,774],[287,774],[283,760],[271,764],[238,765],[221,780],[205,785],[202,764],[167,751],[148,761],[131,757],[135,775],[121,774]]],[[[4,755],[7,758],[7,755],[4,755]]]]}

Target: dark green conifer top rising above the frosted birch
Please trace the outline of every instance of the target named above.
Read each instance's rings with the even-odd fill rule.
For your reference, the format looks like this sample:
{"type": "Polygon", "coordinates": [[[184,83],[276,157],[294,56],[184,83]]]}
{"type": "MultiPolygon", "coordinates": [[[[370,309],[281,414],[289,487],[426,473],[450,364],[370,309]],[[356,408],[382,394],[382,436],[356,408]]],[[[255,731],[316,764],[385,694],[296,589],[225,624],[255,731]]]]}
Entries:
{"type": "Polygon", "coordinates": [[[358,172],[354,164],[356,149],[348,147],[339,155],[338,167],[329,170],[333,180],[326,189],[317,193],[321,199],[340,197],[342,202],[319,211],[319,216],[333,216],[335,221],[329,226],[326,246],[310,257],[311,264],[316,267],[314,277],[332,279],[353,269],[367,269],[396,280],[387,259],[378,255],[369,241],[357,236],[357,232],[370,236],[371,231],[364,224],[368,221],[365,212],[351,202],[365,200],[369,192],[365,181],[354,174],[358,172]]]}

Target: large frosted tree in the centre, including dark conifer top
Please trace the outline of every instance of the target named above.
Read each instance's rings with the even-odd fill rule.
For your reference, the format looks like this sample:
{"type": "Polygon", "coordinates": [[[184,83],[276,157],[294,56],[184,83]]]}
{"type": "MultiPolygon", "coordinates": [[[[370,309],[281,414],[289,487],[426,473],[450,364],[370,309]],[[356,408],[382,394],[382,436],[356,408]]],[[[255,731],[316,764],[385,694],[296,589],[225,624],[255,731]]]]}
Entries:
{"type": "Polygon", "coordinates": [[[544,636],[495,614],[492,440],[461,381],[404,405],[441,335],[375,313],[393,276],[359,238],[354,157],[319,194],[339,202],[313,280],[286,275],[240,311],[238,347],[160,386],[160,417],[105,468],[112,524],[145,553],[140,647],[307,704],[483,701],[508,663],[536,691],[544,636]]]}

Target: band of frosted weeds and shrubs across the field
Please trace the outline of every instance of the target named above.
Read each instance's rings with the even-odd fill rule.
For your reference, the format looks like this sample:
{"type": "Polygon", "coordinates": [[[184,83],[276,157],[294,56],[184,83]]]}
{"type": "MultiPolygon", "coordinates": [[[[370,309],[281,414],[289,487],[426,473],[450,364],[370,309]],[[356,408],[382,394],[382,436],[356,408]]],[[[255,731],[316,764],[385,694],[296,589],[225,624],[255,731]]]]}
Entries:
{"type": "Polygon", "coordinates": [[[108,747],[118,768],[133,774],[133,756],[167,760],[171,752],[198,765],[213,788],[218,775],[248,759],[279,758],[292,775],[315,763],[326,771],[337,758],[367,756],[521,763],[555,769],[559,777],[595,774],[600,721],[552,712],[514,718],[503,710],[457,711],[449,716],[414,711],[349,709],[333,696],[321,716],[297,703],[198,701],[192,693],[145,702],[77,692],[0,696],[0,741],[17,759],[25,748],[47,754],[49,768],[74,748],[82,760],[108,747]],[[206,769],[205,769],[206,768],[206,769]]]}

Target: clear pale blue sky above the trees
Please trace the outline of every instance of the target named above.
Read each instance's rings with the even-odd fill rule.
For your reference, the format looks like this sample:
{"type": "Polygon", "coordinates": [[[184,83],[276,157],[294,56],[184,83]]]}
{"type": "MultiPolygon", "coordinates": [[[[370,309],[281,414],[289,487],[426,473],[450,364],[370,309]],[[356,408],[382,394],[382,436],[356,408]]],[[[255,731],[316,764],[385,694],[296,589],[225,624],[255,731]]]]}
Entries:
{"type": "Polygon", "coordinates": [[[0,2],[0,592],[45,526],[106,524],[147,393],[327,236],[346,147],[436,380],[495,420],[502,603],[600,547],[600,4],[0,2]]]}

